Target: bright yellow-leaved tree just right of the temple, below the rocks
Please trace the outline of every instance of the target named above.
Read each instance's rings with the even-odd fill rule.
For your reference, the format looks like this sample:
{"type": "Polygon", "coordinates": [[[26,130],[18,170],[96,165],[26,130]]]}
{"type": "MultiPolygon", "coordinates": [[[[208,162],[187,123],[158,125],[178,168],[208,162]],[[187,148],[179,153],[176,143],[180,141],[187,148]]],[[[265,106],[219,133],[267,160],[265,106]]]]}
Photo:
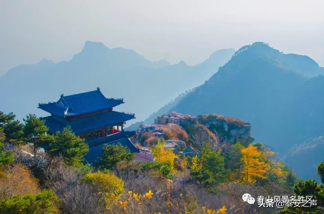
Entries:
{"type": "Polygon", "coordinates": [[[152,155],[156,160],[170,164],[172,170],[174,165],[174,158],[177,157],[177,155],[174,154],[172,150],[165,149],[165,145],[165,139],[163,139],[162,143],[161,139],[158,139],[157,144],[154,146],[154,148],[152,148],[152,155]]]}

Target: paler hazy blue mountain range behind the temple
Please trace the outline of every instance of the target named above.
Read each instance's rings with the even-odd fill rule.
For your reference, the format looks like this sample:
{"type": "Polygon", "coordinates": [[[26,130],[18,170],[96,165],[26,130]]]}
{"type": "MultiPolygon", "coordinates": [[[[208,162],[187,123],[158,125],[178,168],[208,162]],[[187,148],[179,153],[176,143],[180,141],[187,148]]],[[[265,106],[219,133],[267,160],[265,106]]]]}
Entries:
{"type": "MultiPolygon", "coordinates": [[[[124,98],[119,111],[144,119],[183,91],[203,84],[234,54],[234,49],[214,52],[209,59],[189,66],[181,61],[152,62],[131,49],[107,48],[87,41],[70,61],[20,65],[0,77],[0,110],[18,119],[28,113],[46,116],[38,102],[57,101],[60,94],[73,94],[100,87],[106,97],[124,98]]],[[[91,103],[89,103],[90,105],[91,103]]]]}

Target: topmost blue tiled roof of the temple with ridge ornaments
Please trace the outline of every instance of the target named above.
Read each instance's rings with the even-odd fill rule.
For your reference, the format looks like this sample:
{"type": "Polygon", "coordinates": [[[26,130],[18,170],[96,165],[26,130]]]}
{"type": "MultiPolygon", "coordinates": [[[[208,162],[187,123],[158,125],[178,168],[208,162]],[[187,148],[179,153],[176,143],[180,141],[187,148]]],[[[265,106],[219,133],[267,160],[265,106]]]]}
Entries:
{"type": "Polygon", "coordinates": [[[74,117],[86,113],[97,112],[115,107],[123,102],[123,99],[107,99],[97,88],[79,94],[64,96],[57,102],[40,103],[38,108],[60,117],[74,117]]]}

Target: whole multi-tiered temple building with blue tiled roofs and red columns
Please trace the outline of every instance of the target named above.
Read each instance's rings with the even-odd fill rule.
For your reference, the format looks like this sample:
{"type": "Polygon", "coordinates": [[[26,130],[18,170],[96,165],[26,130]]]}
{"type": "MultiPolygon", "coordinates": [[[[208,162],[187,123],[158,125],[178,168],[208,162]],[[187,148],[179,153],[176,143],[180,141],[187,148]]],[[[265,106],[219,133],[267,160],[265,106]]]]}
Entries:
{"type": "Polygon", "coordinates": [[[104,144],[121,143],[131,152],[139,153],[130,137],[135,131],[124,131],[126,121],[135,118],[134,114],[113,111],[115,106],[124,103],[123,99],[106,98],[99,88],[79,94],[64,96],[57,102],[39,103],[38,108],[51,115],[42,117],[49,133],[62,132],[64,127],[71,126],[72,131],[85,139],[89,152],[85,162],[95,165],[102,155],[104,144]]]}

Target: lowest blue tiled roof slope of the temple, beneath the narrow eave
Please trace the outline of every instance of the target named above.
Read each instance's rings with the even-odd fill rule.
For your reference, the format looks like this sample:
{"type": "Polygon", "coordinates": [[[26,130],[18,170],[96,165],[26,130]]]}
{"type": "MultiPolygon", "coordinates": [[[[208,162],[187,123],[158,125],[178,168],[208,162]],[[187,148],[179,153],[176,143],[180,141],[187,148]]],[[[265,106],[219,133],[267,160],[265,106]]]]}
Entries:
{"type": "MultiPolygon", "coordinates": [[[[113,134],[113,135],[117,135],[117,134],[113,134]]],[[[127,146],[132,153],[139,152],[139,148],[137,148],[127,137],[110,141],[111,139],[109,138],[109,136],[107,136],[107,137],[99,138],[97,140],[100,141],[102,144],[90,148],[87,155],[84,156],[85,162],[90,165],[96,165],[96,162],[98,162],[98,157],[102,155],[102,148],[104,147],[104,144],[112,145],[112,144],[121,143],[122,145],[127,146]]],[[[97,141],[97,140],[93,140],[93,141],[97,141]]]]}

